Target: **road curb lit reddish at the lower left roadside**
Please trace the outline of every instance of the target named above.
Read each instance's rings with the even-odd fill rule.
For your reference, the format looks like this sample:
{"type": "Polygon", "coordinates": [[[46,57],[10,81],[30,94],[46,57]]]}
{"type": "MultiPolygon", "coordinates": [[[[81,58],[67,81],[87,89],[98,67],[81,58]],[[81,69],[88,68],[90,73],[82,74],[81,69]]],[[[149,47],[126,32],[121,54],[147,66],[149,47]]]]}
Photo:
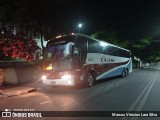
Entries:
{"type": "Polygon", "coordinates": [[[37,90],[36,88],[29,88],[29,89],[26,89],[26,90],[20,90],[20,91],[15,91],[15,92],[11,92],[11,93],[4,93],[2,91],[3,94],[0,95],[0,99],[5,98],[5,97],[12,97],[12,96],[18,96],[18,95],[22,95],[22,94],[27,94],[27,93],[30,93],[30,92],[34,92],[36,90],[37,90]]]}

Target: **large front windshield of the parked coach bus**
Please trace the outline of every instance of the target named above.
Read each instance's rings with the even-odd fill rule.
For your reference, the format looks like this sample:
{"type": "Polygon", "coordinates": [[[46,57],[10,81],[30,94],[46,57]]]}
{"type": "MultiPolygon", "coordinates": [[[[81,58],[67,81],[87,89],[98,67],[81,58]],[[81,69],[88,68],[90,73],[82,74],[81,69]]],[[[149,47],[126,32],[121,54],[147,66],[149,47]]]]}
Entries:
{"type": "Polygon", "coordinates": [[[52,70],[71,69],[71,48],[72,42],[48,47],[47,60],[52,64],[52,70]]]}

